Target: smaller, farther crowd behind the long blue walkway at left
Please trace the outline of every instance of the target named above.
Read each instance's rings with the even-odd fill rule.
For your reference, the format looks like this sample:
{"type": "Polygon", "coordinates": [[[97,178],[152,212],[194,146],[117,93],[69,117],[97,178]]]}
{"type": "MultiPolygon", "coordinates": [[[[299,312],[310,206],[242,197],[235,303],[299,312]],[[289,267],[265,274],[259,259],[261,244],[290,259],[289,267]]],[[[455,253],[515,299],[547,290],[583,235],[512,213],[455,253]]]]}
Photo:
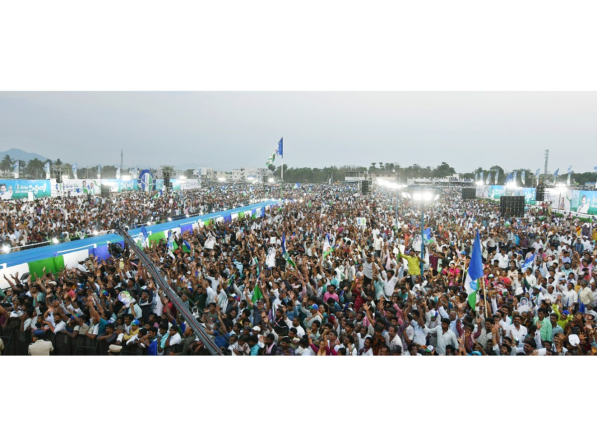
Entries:
{"type": "Polygon", "coordinates": [[[118,226],[135,228],[168,218],[208,214],[248,204],[248,197],[264,198],[270,188],[259,185],[215,185],[176,191],[173,195],[125,191],[109,198],[84,194],[45,197],[35,201],[0,200],[0,244],[18,251],[56,240],[91,237],[118,226]],[[127,213],[122,213],[126,209],[127,213]]]}

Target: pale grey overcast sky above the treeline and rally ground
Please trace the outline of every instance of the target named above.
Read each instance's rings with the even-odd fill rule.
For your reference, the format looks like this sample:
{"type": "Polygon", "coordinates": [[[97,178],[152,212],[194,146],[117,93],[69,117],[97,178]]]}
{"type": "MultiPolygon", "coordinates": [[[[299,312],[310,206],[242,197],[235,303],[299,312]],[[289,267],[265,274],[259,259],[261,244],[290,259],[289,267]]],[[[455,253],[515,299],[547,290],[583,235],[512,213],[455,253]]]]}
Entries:
{"type": "Polygon", "coordinates": [[[597,92],[2,92],[0,151],[79,167],[597,165],[597,92]],[[276,160],[275,164],[279,164],[276,160]]]}

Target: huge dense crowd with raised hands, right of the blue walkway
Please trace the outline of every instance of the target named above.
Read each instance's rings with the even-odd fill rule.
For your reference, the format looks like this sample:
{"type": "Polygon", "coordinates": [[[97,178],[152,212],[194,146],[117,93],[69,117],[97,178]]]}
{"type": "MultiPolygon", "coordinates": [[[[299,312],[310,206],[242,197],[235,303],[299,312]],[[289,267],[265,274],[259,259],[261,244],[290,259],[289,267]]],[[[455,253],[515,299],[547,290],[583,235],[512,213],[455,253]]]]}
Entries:
{"type": "MultiPolygon", "coordinates": [[[[206,193],[172,203],[141,193],[110,201],[148,212],[156,200],[164,216],[199,209],[206,193]]],[[[232,207],[251,194],[210,200],[232,207]]],[[[176,244],[143,243],[226,355],[597,352],[594,221],[530,207],[524,217],[506,219],[495,203],[461,200],[459,188],[444,188],[426,206],[421,254],[420,207],[393,191],[362,196],[346,186],[307,185],[286,194],[296,201],[261,218],[175,234],[176,244]],[[471,306],[464,278],[477,231],[484,276],[471,306]]],[[[81,205],[74,198],[67,209],[81,205]]],[[[107,207],[96,219],[131,225],[150,217],[107,207]]],[[[25,349],[32,354],[207,353],[131,250],[8,280],[0,297],[5,346],[12,334],[32,342],[25,349]]]]}

